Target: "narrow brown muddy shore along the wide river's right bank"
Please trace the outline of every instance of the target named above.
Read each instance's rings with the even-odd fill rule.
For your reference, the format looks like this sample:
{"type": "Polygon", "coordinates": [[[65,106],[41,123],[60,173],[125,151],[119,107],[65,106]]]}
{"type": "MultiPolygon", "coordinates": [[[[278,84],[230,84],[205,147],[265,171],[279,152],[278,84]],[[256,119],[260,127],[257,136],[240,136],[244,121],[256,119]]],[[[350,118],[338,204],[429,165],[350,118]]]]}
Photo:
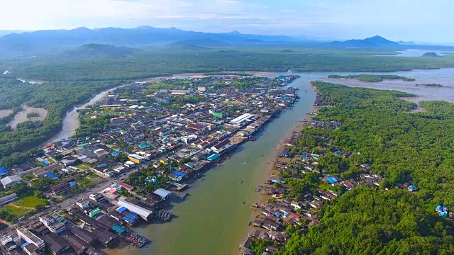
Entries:
{"type": "MultiPolygon", "coordinates": [[[[315,86],[312,85],[312,83],[309,83],[309,86],[316,94],[318,93],[318,91],[316,90],[315,86]]],[[[315,101],[314,101],[314,103],[315,103],[315,101]]],[[[319,106],[314,106],[314,104],[313,104],[310,112],[319,113],[319,108],[320,108],[319,106]]],[[[279,161],[279,159],[280,159],[279,151],[285,146],[285,145],[282,145],[285,142],[285,140],[287,140],[287,138],[290,137],[291,135],[293,135],[294,133],[301,132],[301,130],[304,127],[306,127],[307,125],[309,125],[309,123],[311,123],[311,119],[312,119],[312,115],[310,115],[309,113],[306,113],[304,118],[297,121],[297,123],[295,123],[296,125],[294,125],[294,128],[292,128],[292,130],[290,130],[290,132],[288,132],[286,135],[284,135],[284,137],[282,137],[282,139],[279,141],[279,144],[272,150],[272,152],[271,152],[272,157],[270,157],[270,159],[272,159],[272,161],[270,161],[270,164],[268,164],[268,166],[265,168],[265,180],[269,180],[272,176],[275,176],[274,162],[279,161]],[[306,121],[304,121],[304,120],[306,120],[306,121]]],[[[269,198],[271,198],[271,196],[265,195],[264,193],[260,192],[258,201],[256,202],[256,204],[259,206],[259,208],[254,208],[254,204],[250,205],[251,211],[253,210],[253,212],[251,212],[250,221],[254,221],[260,216],[260,206],[262,204],[266,203],[269,198]]],[[[247,237],[249,232],[253,229],[258,229],[258,228],[253,227],[253,225],[248,226],[247,231],[245,233],[243,233],[243,236],[247,237]]],[[[238,250],[238,246],[236,247],[234,254],[236,254],[236,255],[242,254],[241,251],[238,250]]]]}

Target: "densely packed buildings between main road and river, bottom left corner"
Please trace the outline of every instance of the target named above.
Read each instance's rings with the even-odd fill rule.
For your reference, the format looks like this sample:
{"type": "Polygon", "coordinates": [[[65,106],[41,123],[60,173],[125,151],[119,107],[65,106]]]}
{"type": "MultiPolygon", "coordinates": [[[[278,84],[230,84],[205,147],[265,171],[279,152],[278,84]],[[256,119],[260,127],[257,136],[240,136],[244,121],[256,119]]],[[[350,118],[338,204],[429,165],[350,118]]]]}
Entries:
{"type": "MultiPolygon", "coordinates": [[[[124,186],[128,188],[126,183],[124,186]]],[[[159,189],[145,200],[125,198],[115,183],[93,193],[60,214],[43,214],[37,220],[9,229],[1,244],[10,254],[104,254],[99,247],[111,247],[124,240],[142,247],[148,239],[131,231],[138,222],[150,222],[165,208],[172,192],[159,189]],[[63,216],[64,217],[63,217],[63,216]]]]}

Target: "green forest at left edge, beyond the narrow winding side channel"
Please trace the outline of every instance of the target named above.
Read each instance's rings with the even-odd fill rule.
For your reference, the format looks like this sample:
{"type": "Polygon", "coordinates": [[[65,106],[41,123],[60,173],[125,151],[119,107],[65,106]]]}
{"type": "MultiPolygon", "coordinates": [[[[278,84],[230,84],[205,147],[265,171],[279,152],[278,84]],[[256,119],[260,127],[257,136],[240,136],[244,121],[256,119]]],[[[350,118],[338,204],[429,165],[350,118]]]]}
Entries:
{"type": "Polygon", "coordinates": [[[10,167],[21,162],[26,157],[24,152],[60,131],[62,118],[74,105],[120,84],[120,81],[103,81],[45,82],[35,85],[15,79],[0,79],[0,109],[13,109],[16,113],[21,111],[21,106],[27,105],[48,111],[45,120],[27,120],[15,130],[5,125],[13,118],[13,114],[0,119],[0,123],[4,124],[0,125],[0,165],[10,167]]]}

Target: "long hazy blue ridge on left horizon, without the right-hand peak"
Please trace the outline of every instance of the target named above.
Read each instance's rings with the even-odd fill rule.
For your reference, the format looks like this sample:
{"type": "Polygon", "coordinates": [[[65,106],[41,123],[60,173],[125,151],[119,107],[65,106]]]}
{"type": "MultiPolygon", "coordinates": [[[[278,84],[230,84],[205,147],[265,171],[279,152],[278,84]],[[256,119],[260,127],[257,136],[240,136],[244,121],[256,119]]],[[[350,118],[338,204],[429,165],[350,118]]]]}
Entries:
{"type": "MultiPolygon", "coordinates": [[[[259,42],[292,42],[297,39],[284,35],[249,35],[231,33],[203,33],[177,28],[76,28],[72,30],[38,30],[31,33],[11,33],[0,38],[0,53],[33,53],[68,50],[80,45],[95,43],[137,47],[139,45],[166,45],[184,40],[214,40],[230,44],[259,42]]],[[[191,43],[194,44],[194,43],[191,43]]],[[[195,44],[197,45],[197,44],[195,44]]]]}

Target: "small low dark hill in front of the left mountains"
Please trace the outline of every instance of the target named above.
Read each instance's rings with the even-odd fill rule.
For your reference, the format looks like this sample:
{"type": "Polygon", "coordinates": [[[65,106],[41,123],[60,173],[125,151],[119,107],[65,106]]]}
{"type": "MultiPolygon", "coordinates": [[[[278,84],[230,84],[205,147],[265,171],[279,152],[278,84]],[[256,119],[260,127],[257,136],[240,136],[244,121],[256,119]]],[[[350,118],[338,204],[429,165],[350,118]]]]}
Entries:
{"type": "Polygon", "coordinates": [[[126,57],[127,55],[140,51],[131,47],[116,47],[114,45],[90,43],[82,45],[76,50],[67,50],[65,51],[65,55],[74,57],[126,57]]]}

